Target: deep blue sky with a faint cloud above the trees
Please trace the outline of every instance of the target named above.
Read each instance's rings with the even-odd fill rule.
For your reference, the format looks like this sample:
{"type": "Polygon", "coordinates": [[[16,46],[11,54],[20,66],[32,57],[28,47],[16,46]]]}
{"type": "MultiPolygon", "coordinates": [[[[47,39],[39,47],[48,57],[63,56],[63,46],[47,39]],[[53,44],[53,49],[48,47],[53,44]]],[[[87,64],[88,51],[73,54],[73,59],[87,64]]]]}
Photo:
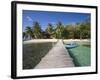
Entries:
{"type": "Polygon", "coordinates": [[[55,25],[58,21],[64,25],[82,22],[87,19],[89,13],[70,13],[70,12],[47,12],[23,10],[22,26],[23,31],[27,26],[32,27],[34,21],[38,21],[43,30],[46,29],[48,23],[55,25]]]}

